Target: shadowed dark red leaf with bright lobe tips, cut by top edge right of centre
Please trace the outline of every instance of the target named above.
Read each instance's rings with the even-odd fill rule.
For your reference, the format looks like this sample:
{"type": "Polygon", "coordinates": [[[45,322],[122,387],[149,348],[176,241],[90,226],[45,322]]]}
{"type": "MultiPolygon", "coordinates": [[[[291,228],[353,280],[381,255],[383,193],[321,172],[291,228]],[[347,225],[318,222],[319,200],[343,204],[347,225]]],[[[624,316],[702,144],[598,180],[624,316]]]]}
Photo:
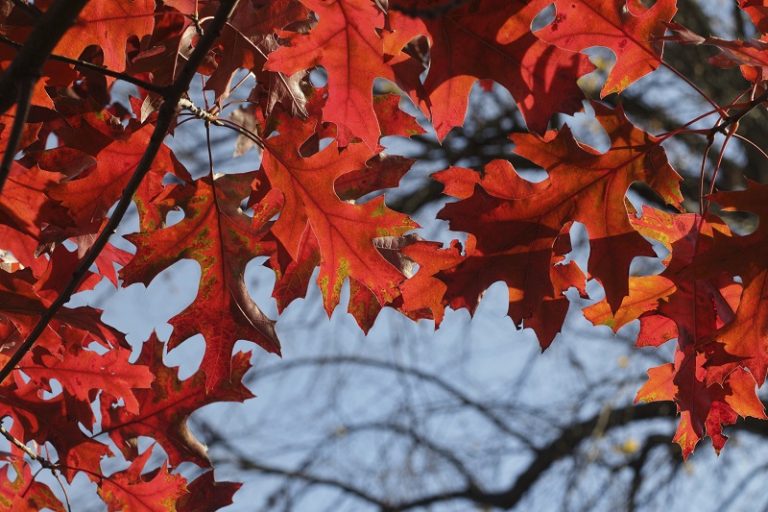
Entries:
{"type": "Polygon", "coordinates": [[[414,34],[430,41],[424,89],[438,138],[464,122],[469,92],[478,79],[506,87],[531,130],[543,132],[555,112],[581,107],[576,80],[593,68],[586,57],[537,39],[531,22],[545,1],[483,0],[428,20],[391,16],[398,41],[414,34]],[[457,51],[461,49],[460,51],[457,51]],[[482,58],[478,58],[482,55],[482,58]]]}

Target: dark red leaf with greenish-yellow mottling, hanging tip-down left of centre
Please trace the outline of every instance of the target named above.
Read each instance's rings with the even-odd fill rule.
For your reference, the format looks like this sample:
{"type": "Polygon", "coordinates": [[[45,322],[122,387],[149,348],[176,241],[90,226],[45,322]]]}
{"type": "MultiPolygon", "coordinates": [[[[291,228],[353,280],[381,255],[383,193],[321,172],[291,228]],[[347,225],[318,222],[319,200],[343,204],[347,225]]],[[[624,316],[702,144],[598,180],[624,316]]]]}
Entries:
{"type": "Polygon", "coordinates": [[[125,283],[148,285],[180,259],[191,258],[200,264],[197,298],[171,319],[174,330],[169,343],[174,347],[203,334],[206,350],[201,368],[208,391],[229,381],[237,340],[251,340],[268,352],[280,352],[274,322],[250,297],[244,280],[248,262],[268,254],[272,244],[262,240],[264,233],[240,209],[240,201],[251,192],[252,180],[248,174],[225,175],[177,187],[176,204],[186,217],[168,228],[154,226],[130,235],[136,255],[120,274],[125,283]]]}

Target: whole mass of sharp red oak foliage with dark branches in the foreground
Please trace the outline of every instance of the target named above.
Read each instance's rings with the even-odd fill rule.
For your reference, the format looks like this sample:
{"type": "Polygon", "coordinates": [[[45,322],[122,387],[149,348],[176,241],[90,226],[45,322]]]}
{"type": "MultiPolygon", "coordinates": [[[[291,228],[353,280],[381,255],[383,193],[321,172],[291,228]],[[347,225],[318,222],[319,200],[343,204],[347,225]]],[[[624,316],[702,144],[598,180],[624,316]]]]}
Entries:
{"type": "Polygon", "coordinates": [[[587,319],[614,331],[639,321],[638,346],[676,346],[637,401],[674,402],[683,457],[705,436],[721,450],[723,426],[766,419],[757,388],[768,373],[768,185],[718,179],[729,143],[750,142],[740,122],[768,100],[768,2],[738,8],[754,38],[697,34],[676,22],[676,0],[0,1],[0,433],[10,446],[0,509],[67,506],[30,462],[62,487],[85,475],[110,510],[229,503],[237,483],[177,469],[210,467],[192,412],[252,396],[250,354],[233,354],[235,343],[280,352],[275,319],[244,280],[256,257],[275,273],[279,310],[316,273],[326,312],[348,284],[349,313],[366,332],[385,307],[439,327],[446,308],[474,313],[501,281],[509,316],[542,349],[562,327],[566,292],[589,298],[597,283],[604,298],[591,297],[587,319]],[[712,48],[700,64],[738,68],[739,94],[708,95],[665,60],[670,45],[712,48]],[[592,47],[615,64],[586,101],[579,80],[595,69],[592,47]],[[659,68],[708,106],[652,134],[620,103],[659,68]],[[456,199],[438,218],[466,236],[425,240],[381,193],[414,163],[388,155],[382,138],[425,125],[439,144],[464,123],[477,84],[509,91],[526,128],[506,134],[504,158],[433,175],[456,199]],[[559,122],[585,107],[604,151],[559,122]],[[209,148],[211,133],[237,134],[251,172],[227,174],[211,159],[193,176],[167,145],[187,122],[204,127],[209,148]],[[690,155],[701,162],[693,192],[665,149],[691,136],[703,141],[690,155]],[[546,177],[526,179],[521,161],[546,177]],[[642,191],[641,207],[630,189],[642,191]],[[127,251],[112,237],[131,205],[139,231],[127,251]],[[744,230],[734,211],[757,228],[744,230]],[[576,223],[586,266],[572,258],[576,223]],[[657,255],[660,272],[631,271],[657,255]],[[182,259],[200,267],[197,296],[171,320],[170,339],[153,335],[136,360],[98,309],[68,305],[103,279],[149,284],[182,259]],[[164,350],[198,334],[202,363],[181,380],[164,350]],[[149,464],[153,448],[140,450],[138,437],[166,460],[149,464]],[[106,474],[111,457],[126,469],[106,474]]]}

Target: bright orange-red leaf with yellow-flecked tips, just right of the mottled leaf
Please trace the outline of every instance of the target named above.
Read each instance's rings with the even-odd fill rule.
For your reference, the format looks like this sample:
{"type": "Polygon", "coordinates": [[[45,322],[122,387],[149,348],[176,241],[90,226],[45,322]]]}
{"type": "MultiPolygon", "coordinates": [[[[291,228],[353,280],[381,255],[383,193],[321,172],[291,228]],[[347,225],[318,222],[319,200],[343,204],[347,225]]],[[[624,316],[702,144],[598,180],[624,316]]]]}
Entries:
{"type": "Polygon", "coordinates": [[[300,259],[304,237],[316,238],[318,284],[329,314],[339,303],[347,277],[367,287],[379,304],[391,302],[399,295],[397,286],[404,277],[379,253],[374,241],[398,237],[417,225],[387,208],[381,196],[364,204],[342,201],[335,182],[364,169],[371,152],[363,144],[340,150],[332,142],[318,153],[302,157],[299,148],[310,135],[306,124],[286,119],[280,135],[266,140],[264,170],[272,187],[284,197],[272,232],[294,261],[300,259]],[[311,235],[306,234],[307,227],[311,235]]]}

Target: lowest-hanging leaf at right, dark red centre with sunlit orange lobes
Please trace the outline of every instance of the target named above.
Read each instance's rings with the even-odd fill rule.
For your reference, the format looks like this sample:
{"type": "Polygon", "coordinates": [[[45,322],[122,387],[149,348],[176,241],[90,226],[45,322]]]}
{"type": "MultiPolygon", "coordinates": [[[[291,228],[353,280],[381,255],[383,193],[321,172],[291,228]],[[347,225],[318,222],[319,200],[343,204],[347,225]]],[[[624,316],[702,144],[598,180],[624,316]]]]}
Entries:
{"type": "MultiPolygon", "coordinates": [[[[666,270],[655,276],[657,290],[666,296],[655,311],[647,309],[650,303],[636,309],[639,313],[648,311],[641,319],[644,323],[638,344],[678,339],[674,364],[649,372],[649,382],[638,399],[673,400],[677,404],[681,419],[675,441],[684,457],[704,435],[712,438],[719,451],[726,441],[722,425],[734,423],[738,416],[765,417],[755,392],[754,370],[748,363],[752,371],[745,370],[739,357],[726,352],[727,344],[713,341],[718,329],[734,320],[740,286],[734,285],[720,267],[705,262],[714,257],[717,242],[730,231],[715,219],[707,222],[699,215],[673,215],[647,207],[633,224],[671,251],[666,270]],[[673,292],[667,293],[670,284],[673,292]]],[[[654,302],[653,293],[650,295],[654,302]]]]}

